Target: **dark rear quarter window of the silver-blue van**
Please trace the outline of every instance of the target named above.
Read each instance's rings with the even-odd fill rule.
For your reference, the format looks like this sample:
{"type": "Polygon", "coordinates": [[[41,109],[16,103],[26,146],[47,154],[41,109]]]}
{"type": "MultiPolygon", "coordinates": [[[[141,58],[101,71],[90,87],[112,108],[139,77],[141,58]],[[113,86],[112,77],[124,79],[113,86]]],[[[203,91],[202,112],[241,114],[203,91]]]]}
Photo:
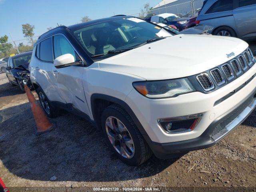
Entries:
{"type": "Polygon", "coordinates": [[[218,0],[206,11],[205,14],[233,10],[233,0],[218,0]]]}

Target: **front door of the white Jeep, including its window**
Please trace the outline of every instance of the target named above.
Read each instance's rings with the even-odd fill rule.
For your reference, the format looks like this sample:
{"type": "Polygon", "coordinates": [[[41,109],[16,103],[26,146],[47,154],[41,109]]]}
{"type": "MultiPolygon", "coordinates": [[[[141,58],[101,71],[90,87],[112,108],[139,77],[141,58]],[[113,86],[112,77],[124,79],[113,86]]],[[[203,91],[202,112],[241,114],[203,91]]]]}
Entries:
{"type": "MultiPolygon", "coordinates": [[[[76,61],[81,61],[72,44],[63,34],[53,36],[54,58],[64,54],[72,54],[76,61]]],[[[83,112],[90,116],[82,84],[83,66],[69,66],[55,68],[54,76],[56,86],[67,103],[67,106],[74,113],[83,112]]],[[[81,113],[78,115],[82,115],[81,113]]]]}

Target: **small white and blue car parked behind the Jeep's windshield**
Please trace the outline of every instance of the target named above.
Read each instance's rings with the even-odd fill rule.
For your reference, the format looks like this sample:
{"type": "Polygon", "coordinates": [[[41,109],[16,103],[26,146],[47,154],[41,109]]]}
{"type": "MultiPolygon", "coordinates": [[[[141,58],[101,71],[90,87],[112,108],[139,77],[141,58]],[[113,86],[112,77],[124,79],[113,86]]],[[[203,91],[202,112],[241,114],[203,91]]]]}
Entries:
{"type": "Polygon", "coordinates": [[[167,25],[174,25],[179,31],[182,31],[186,27],[186,22],[189,18],[181,18],[175,14],[163,13],[154,15],[150,18],[151,22],[164,23],[167,25]]]}

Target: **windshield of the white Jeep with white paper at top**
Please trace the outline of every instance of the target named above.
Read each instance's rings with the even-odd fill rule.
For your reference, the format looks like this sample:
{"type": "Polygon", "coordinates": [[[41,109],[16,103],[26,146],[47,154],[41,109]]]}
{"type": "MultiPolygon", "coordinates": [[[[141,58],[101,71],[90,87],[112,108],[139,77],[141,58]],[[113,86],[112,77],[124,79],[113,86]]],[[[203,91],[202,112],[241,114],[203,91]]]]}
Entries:
{"type": "Polygon", "coordinates": [[[74,31],[74,36],[92,58],[107,57],[117,50],[129,50],[172,35],[174,34],[138,18],[117,18],[74,31]]]}

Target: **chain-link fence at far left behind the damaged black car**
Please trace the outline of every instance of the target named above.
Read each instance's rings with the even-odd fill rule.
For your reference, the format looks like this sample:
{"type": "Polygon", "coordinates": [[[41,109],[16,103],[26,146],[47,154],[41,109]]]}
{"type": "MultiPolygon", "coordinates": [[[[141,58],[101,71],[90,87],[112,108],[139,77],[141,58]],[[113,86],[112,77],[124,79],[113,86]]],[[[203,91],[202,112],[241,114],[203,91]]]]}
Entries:
{"type": "Polygon", "coordinates": [[[6,72],[6,64],[10,56],[33,50],[38,36],[0,44],[0,74],[6,72]]]}

